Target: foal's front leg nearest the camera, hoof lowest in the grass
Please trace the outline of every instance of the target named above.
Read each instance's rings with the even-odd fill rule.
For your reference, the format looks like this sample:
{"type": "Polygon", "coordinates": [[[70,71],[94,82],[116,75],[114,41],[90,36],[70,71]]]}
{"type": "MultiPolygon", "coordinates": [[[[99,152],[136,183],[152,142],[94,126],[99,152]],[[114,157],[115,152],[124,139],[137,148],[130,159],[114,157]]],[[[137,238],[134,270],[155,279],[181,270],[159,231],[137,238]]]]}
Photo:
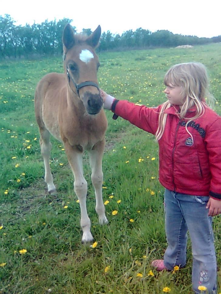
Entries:
{"type": "Polygon", "coordinates": [[[74,191],[80,203],[80,226],[83,231],[82,242],[90,242],[93,240],[93,236],[90,232],[90,219],[88,217],[86,207],[87,182],[83,176],[83,152],[77,149],[77,147],[71,146],[68,142],[66,142],[64,146],[69,164],[74,175],[74,191]]]}

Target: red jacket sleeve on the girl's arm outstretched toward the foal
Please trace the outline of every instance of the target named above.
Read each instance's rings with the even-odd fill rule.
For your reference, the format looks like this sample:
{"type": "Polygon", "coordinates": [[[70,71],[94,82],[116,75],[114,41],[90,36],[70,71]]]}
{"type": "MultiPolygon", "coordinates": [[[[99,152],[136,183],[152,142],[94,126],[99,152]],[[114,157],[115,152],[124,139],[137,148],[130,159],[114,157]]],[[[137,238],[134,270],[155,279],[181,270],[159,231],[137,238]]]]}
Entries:
{"type": "Polygon", "coordinates": [[[156,108],[149,108],[126,100],[115,100],[112,104],[112,112],[115,115],[121,116],[131,124],[151,134],[155,134],[157,131],[160,108],[161,105],[156,108]]]}

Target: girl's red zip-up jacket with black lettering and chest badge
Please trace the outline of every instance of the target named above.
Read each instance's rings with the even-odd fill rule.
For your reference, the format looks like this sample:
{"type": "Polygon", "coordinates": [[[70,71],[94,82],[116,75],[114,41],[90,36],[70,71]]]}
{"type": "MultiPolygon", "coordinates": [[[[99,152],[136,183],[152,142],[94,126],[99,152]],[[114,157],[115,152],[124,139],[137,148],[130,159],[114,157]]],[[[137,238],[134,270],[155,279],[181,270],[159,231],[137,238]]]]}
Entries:
{"type": "MultiPolygon", "coordinates": [[[[155,135],[162,105],[148,108],[128,101],[114,100],[112,111],[144,131],[155,135]]],[[[159,181],[168,190],[189,195],[210,195],[221,199],[221,117],[212,109],[192,121],[188,130],[185,120],[176,115],[178,106],[165,110],[165,131],[159,143],[159,181]]],[[[190,109],[187,117],[195,115],[190,109]]]]}

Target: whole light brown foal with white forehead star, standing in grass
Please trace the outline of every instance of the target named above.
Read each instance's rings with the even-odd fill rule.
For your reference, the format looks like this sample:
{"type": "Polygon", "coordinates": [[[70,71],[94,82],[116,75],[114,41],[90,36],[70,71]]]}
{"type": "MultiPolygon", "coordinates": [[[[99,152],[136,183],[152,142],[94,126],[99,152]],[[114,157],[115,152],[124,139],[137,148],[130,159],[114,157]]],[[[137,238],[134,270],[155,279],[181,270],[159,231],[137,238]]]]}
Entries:
{"type": "Polygon", "coordinates": [[[70,25],[66,25],[63,32],[65,73],[45,75],[35,92],[35,114],[39,125],[48,192],[56,192],[49,165],[49,137],[52,134],[63,143],[74,175],[74,191],[80,201],[82,242],[93,240],[86,208],[87,182],[83,176],[82,159],[85,150],[90,158],[99,223],[108,222],[102,199],[102,156],[107,118],[97,85],[99,61],[94,51],[100,34],[100,26],[86,37],[73,34],[70,25]]]}

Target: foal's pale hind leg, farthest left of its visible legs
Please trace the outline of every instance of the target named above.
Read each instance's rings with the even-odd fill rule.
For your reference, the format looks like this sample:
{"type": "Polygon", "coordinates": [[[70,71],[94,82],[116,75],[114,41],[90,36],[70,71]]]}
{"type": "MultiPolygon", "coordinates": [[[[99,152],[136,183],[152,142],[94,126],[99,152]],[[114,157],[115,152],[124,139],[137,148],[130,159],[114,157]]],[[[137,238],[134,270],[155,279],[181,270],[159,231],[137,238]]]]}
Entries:
{"type": "Polygon", "coordinates": [[[44,159],[45,165],[45,182],[48,185],[49,194],[55,194],[56,188],[53,183],[53,177],[51,173],[51,168],[49,164],[50,151],[51,151],[51,143],[50,143],[50,133],[47,129],[39,128],[40,133],[40,146],[41,146],[41,154],[44,159]]]}

